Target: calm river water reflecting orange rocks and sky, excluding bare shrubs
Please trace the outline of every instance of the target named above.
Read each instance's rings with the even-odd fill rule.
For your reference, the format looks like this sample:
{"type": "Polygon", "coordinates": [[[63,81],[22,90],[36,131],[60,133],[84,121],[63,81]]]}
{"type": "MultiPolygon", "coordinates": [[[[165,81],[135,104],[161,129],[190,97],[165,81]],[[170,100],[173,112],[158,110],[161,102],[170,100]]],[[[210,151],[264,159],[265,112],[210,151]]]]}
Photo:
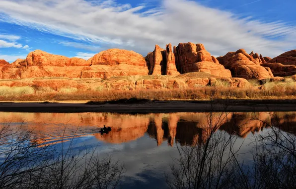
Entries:
{"type": "MultiPolygon", "coordinates": [[[[274,116],[281,129],[296,133],[296,112],[214,113],[212,121],[219,123],[217,132],[235,133],[235,146],[242,145],[245,162],[251,160],[248,145],[254,135],[268,131],[274,116]],[[259,119],[259,120],[258,120],[259,119]],[[260,121],[261,120],[261,121],[260,121]],[[292,127],[291,127],[292,125],[292,127]],[[229,130],[230,128],[230,130],[229,130]]],[[[126,189],[166,187],[164,174],[170,172],[173,158],[178,158],[177,145],[194,146],[205,140],[210,113],[15,113],[0,112],[0,123],[33,130],[39,143],[60,145],[74,137],[77,149],[97,146],[99,155],[110,154],[124,162],[127,172],[123,179],[126,189]],[[101,135],[104,125],[112,131],[101,135]]]]}

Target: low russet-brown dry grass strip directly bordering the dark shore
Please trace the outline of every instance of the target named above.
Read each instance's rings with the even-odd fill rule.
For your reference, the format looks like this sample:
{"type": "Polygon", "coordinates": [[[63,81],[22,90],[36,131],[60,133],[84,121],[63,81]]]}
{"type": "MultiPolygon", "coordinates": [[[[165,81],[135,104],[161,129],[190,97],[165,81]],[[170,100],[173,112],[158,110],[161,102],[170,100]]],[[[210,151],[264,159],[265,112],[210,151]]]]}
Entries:
{"type": "MultiPolygon", "coordinates": [[[[270,85],[270,84],[269,84],[270,85]]],[[[67,89],[66,91],[68,91],[67,89]]],[[[71,91],[71,90],[70,90],[71,91]]],[[[69,92],[69,91],[68,91],[69,92]]],[[[296,99],[296,86],[292,84],[268,86],[266,89],[202,87],[196,89],[176,90],[134,90],[134,91],[79,91],[74,93],[32,94],[28,90],[22,93],[1,95],[1,101],[48,101],[48,100],[92,100],[107,101],[122,98],[146,98],[151,100],[209,100],[209,99],[296,99]],[[22,95],[20,95],[22,94],[22,95]]]]}

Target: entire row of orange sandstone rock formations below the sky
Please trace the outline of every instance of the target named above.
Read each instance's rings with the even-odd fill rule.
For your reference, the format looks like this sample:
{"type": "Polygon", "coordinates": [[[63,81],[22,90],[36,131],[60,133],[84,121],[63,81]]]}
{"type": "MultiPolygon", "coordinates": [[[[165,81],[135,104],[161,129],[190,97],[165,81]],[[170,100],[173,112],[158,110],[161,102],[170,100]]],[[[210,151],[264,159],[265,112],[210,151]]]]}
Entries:
{"type": "MultiPolygon", "coordinates": [[[[89,60],[53,55],[41,50],[30,52],[26,59],[17,59],[9,64],[0,60],[0,79],[26,78],[101,78],[135,75],[169,75],[204,72],[211,77],[242,81],[243,79],[265,79],[275,76],[292,76],[296,72],[296,50],[271,59],[245,50],[229,52],[215,58],[203,44],[179,43],[165,49],[155,45],[146,57],[134,51],[108,49],[89,60]],[[237,77],[237,78],[232,78],[237,77]]],[[[230,81],[229,80],[229,81],[230,81]]],[[[141,81],[139,85],[162,85],[157,81],[141,81]]],[[[242,81],[245,82],[245,81],[242,81]]],[[[169,85],[184,85],[174,82],[169,85]]],[[[188,83],[188,81],[186,81],[188,83]]],[[[190,83],[190,82],[189,82],[190,83]]],[[[149,88],[149,87],[147,87],[149,88]]]]}

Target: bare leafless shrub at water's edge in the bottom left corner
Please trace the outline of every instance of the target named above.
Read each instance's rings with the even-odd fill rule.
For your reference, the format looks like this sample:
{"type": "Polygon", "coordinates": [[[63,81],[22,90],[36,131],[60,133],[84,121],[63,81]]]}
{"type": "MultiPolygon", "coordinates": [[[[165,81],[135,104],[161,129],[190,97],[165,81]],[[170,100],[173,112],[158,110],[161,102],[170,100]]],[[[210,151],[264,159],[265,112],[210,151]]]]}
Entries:
{"type": "MultiPolygon", "coordinates": [[[[65,127],[66,130],[66,127],[65,127]]],[[[124,166],[96,148],[75,150],[74,137],[65,148],[38,144],[30,131],[3,126],[0,130],[1,189],[115,189],[124,166]]]]}

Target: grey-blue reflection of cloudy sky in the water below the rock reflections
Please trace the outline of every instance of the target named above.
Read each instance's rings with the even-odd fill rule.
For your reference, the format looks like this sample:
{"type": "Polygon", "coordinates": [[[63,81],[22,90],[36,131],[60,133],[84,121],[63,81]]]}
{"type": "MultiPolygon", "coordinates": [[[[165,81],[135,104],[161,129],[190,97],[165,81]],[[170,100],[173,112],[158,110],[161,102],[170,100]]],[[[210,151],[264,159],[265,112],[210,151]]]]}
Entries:
{"type": "MultiPolygon", "coordinates": [[[[252,134],[249,134],[244,139],[238,137],[234,143],[234,149],[240,147],[241,155],[238,159],[243,160],[245,163],[252,159],[252,155],[248,153],[252,148],[249,145],[252,138],[252,134]]],[[[67,148],[69,142],[64,144],[67,148]]],[[[165,188],[166,182],[164,175],[170,173],[169,166],[173,163],[173,158],[179,157],[175,145],[174,147],[170,147],[167,143],[163,142],[160,146],[157,146],[156,140],[150,138],[148,134],[135,141],[122,144],[108,144],[98,141],[93,136],[77,138],[74,140],[74,144],[74,150],[97,147],[96,153],[99,156],[104,157],[110,154],[114,160],[124,162],[126,172],[121,182],[123,189],[165,188]]]]}

